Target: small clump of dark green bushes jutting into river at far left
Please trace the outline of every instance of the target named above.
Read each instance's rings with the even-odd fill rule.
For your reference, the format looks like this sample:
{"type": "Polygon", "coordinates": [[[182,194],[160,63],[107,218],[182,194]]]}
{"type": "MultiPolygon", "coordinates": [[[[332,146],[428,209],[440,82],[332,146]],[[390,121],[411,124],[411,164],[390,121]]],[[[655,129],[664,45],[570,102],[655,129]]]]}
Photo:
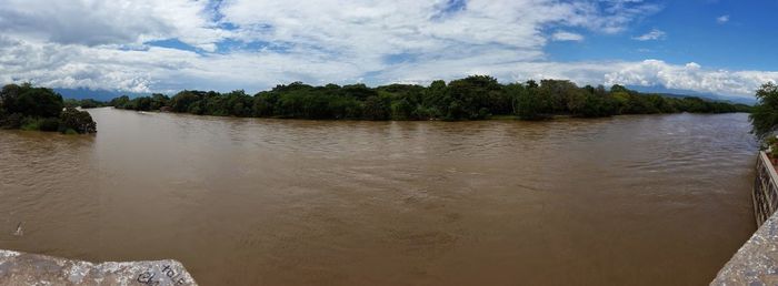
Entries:
{"type": "Polygon", "coordinates": [[[0,127],[62,133],[94,133],[97,123],[86,111],[66,108],[62,95],[30,83],[8,84],[0,91],[0,127]]]}

